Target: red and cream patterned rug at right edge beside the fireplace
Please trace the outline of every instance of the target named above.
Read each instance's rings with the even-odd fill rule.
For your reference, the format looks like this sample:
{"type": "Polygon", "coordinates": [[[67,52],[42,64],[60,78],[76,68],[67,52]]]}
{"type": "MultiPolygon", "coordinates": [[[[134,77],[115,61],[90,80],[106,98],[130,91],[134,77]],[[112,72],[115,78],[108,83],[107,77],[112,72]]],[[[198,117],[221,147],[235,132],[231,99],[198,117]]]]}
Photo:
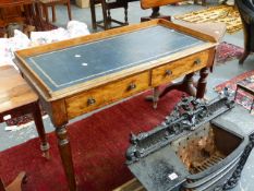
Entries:
{"type": "MultiPolygon", "coordinates": [[[[222,84],[217,85],[215,87],[215,91],[219,94],[223,94],[225,91],[227,89],[229,92],[229,95],[234,97],[237,83],[240,83],[251,89],[254,89],[254,70],[242,73],[222,84]]],[[[249,93],[243,92],[241,89],[238,91],[235,102],[242,105],[244,108],[250,110],[253,99],[254,96],[250,95],[249,93]]]]}

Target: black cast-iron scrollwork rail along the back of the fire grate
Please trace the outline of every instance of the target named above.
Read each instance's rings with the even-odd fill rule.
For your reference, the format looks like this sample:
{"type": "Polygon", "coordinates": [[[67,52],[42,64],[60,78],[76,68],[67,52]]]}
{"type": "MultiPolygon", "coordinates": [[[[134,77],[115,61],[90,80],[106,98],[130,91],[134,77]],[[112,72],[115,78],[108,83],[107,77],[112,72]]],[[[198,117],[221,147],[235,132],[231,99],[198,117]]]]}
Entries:
{"type": "Polygon", "coordinates": [[[132,164],[167,144],[184,131],[193,131],[210,119],[234,106],[228,97],[206,103],[195,97],[183,97],[166,120],[148,132],[131,134],[131,146],[126,151],[126,163],[132,164]]]}

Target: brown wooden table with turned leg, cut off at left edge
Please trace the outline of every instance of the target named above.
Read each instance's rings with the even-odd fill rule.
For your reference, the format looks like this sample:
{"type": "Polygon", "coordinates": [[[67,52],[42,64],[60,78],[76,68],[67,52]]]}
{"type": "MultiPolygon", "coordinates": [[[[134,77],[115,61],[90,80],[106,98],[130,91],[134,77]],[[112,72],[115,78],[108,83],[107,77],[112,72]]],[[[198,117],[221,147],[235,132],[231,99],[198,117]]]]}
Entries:
{"type": "Polygon", "coordinates": [[[0,67],[0,122],[32,114],[41,141],[40,150],[49,158],[49,144],[45,134],[38,96],[11,65],[0,67]]]}

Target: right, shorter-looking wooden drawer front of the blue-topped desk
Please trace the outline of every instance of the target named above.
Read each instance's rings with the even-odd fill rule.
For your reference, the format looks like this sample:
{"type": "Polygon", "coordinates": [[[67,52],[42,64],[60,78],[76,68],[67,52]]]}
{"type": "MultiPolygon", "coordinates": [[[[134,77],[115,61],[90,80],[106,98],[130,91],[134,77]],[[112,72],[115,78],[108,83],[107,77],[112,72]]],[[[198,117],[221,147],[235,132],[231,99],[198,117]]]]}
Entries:
{"type": "Polygon", "coordinates": [[[209,51],[206,50],[154,69],[152,71],[152,85],[157,86],[201,70],[207,65],[208,56],[209,51]]]}

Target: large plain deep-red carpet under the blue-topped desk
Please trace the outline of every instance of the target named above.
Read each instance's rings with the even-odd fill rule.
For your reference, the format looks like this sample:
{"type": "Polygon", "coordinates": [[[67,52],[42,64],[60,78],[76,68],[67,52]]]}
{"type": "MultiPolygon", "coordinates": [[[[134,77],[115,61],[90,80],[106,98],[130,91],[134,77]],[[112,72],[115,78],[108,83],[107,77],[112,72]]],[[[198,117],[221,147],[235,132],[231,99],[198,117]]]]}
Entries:
{"type": "MultiPolygon", "coordinates": [[[[68,126],[78,190],[111,191],[133,178],[125,165],[130,133],[147,131],[161,123],[182,93],[172,91],[158,108],[145,100],[147,93],[104,109],[68,126]]],[[[50,159],[41,157],[39,139],[0,153],[0,177],[7,184],[26,171],[23,191],[66,191],[55,133],[47,134],[50,159]]]]}

